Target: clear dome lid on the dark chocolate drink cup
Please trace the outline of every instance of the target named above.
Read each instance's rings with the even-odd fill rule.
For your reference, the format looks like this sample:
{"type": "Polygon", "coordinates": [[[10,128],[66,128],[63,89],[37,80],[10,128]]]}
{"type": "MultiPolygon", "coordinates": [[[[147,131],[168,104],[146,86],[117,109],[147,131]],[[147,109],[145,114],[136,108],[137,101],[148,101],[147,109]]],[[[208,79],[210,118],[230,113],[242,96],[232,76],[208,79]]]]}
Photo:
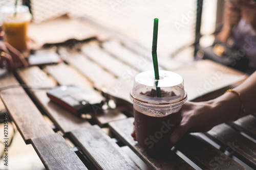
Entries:
{"type": "Polygon", "coordinates": [[[147,104],[168,105],[184,104],[187,93],[183,78],[175,72],[159,70],[160,80],[155,80],[154,70],[139,73],[134,79],[131,91],[132,101],[137,100],[147,104]],[[161,97],[157,96],[157,90],[161,97]]]}

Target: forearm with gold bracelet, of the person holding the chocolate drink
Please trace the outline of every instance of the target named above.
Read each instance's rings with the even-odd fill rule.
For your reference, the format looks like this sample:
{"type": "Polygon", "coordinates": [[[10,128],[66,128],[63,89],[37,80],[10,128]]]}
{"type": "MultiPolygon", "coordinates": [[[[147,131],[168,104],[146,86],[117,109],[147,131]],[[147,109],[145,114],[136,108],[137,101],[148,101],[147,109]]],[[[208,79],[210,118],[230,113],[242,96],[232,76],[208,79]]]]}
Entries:
{"type": "Polygon", "coordinates": [[[213,100],[214,106],[219,112],[217,114],[221,116],[220,123],[235,120],[256,111],[256,72],[234,90],[241,93],[245,112],[240,112],[241,101],[239,96],[227,92],[213,100]]]}

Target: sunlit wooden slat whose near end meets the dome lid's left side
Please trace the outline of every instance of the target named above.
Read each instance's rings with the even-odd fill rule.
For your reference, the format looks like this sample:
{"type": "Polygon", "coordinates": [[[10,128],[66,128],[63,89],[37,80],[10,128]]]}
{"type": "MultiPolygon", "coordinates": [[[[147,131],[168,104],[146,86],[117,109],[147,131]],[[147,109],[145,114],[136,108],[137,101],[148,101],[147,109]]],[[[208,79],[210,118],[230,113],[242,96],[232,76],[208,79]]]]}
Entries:
{"type": "Polygon", "coordinates": [[[103,51],[98,44],[84,44],[81,47],[81,51],[91,60],[99,63],[102,67],[109,70],[119,78],[123,77],[123,75],[127,74],[128,72],[133,72],[134,76],[138,74],[138,70],[136,70],[136,68],[132,68],[117,60],[110,54],[103,51]]]}

